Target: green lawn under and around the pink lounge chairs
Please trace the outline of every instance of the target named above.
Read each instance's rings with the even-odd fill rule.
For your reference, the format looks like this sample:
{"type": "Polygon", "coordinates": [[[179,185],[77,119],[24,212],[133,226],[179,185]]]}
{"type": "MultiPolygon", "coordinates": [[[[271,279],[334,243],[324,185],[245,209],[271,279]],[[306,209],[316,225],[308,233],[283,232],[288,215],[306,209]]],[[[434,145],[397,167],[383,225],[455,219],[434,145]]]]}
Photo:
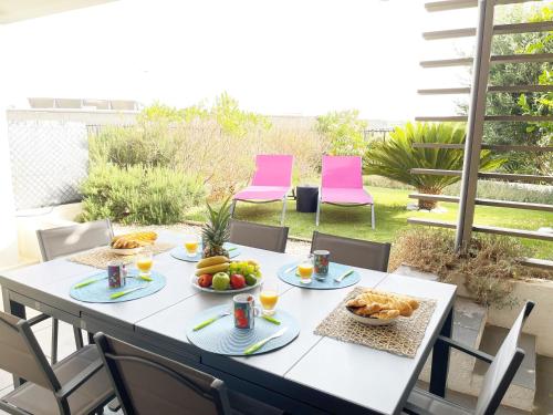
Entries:
{"type": "MultiPolygon", "coordinates": [[[[407,224],[409,217],[457,221],[457,204],[440,204],[441,207],[448,209],[445,214],[408,211],[406,205],[414,203],[413,199],[408,198],[410,190],[385,187],[369,187],[368,190],[375,198],[375,230],[371,229],[371,209],[368,207],[344,208],[331,205],[323,205],[319,230],[325,234],[357,239],[393,242],[398,232],[415,227],[407,224]]],[[[281,209],[282,205],[279,203],[262,205],[238,203],[234,217],[276,226],[280,224],[281,209]]],[[[204,220],[205,216],[202,211],[197,210],[191,212],[188,219],[204,220]]],[[[477,206],[474,222],[478,225],[536,230],[540,227],[552,227],[553,214],[477,206]]],[[[285,225],[290,227],[291,236],[311,239],[315,229],[315,214],[295,211],[295,201],[290,200],[286,206],[285,225]]],[[[522,242],[536,249],[536,258],[553,259],[553,243],[531,239],[523,239],[522,242]]]]}

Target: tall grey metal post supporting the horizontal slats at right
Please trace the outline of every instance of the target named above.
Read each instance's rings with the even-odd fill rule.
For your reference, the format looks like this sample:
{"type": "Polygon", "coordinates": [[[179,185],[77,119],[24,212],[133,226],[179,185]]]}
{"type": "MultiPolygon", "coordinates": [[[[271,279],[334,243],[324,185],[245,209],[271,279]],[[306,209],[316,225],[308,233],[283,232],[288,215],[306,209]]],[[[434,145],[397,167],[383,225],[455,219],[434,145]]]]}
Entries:
{"type": "Polygon", "coordinates": [[[474,199],[477,196],[478,170],[480,168],[486,94],[490,70],[491,40],[493,37],[493,0],[479,0],[477,49],[472,68],[472,87],[456,236],[457,250],[463,250],[468,247],[474,221],[474,199]]]}

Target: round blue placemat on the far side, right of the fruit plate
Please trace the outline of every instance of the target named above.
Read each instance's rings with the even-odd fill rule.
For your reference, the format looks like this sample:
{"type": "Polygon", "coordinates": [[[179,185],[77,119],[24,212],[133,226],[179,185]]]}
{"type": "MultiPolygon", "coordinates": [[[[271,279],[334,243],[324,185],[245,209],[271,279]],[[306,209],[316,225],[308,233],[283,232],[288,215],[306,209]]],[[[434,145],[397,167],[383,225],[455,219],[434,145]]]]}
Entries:
{"type": "Polygon", "coordinates": [[[304,284],[301,282],[300,276],[296,274],[296,268],[290,270],[292,267],[298,266],[296,262],[288,263],[279,268],[278,276],[279,278],[288,282],[291,286],[309,288],[312,290],[336,290],[340,288],[345,288],[353,286],[361,280],[361,276],[357,271],[354,271],[352,274],[344,278],[341,282],[334,281],[334,278],[342,276],[344,272],[352,269],[349,266],[344,266],[342,263],[331,262],[328,266],[328,274],[324,279],[324,281],[320,281],[315,278],[315,274],[311,277],[311,283],[304,284]],[[289,272],[284,272],[290,270],[289,272]]]}

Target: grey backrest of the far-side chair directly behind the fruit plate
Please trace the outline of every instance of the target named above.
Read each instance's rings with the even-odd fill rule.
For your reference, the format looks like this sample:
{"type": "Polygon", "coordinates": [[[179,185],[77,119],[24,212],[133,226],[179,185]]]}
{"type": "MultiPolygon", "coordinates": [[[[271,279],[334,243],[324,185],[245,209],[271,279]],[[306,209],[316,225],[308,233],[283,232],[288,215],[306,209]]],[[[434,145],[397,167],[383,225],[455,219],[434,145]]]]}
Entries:
{"type": "Polygon", "coordinates": [[[229,240],[247,247],[284,252],[286,250],[288,231],[289,228],[285,226],[269,226],[231,220],[229,240]]]}

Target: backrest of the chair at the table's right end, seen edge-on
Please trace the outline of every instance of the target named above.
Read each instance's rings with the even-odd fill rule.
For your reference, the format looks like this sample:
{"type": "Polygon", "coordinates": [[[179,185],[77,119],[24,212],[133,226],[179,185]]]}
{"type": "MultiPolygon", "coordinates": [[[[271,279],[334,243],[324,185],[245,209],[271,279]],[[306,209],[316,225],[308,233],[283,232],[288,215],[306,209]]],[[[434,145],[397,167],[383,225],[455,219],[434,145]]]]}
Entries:
{"type": "Polygon", "coordinates": [[[478,398],[476,414],[494,414],[517,371],[519,370],[524,351],[518,347],[519,338],[526,318],[532,312],[534,303],[529,301],[517,318],[501,347],[493,357],[478,398]]]}

